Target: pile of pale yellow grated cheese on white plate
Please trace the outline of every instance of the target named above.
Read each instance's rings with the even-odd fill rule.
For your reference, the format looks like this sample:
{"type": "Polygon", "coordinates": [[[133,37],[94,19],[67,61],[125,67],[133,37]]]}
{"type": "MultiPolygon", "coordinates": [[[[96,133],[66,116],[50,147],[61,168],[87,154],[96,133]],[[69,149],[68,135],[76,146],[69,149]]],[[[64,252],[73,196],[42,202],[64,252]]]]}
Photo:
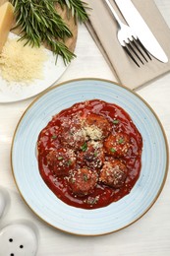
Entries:
{"type": "Polygon", "coordinates": [[[43,78],[43,63],[47,59],[44,47],[31,47],[26,41],[8,39],[0,54],[0,70],[8,82],[26,82],[43,78]]]}

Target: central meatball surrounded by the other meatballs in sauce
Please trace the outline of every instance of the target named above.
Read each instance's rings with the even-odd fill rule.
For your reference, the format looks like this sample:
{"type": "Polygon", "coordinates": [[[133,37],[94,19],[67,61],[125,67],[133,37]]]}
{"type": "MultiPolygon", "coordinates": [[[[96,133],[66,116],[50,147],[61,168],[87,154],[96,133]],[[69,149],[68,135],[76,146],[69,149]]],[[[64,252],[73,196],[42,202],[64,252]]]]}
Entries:
{"type": "Polygon", "coordinates": [[[104,161],[104,152],[102,143],[87,142],[82,151],[78,154],[78,164],[87,166],[91,169],[98,169],[102,166],[104,161]]]}

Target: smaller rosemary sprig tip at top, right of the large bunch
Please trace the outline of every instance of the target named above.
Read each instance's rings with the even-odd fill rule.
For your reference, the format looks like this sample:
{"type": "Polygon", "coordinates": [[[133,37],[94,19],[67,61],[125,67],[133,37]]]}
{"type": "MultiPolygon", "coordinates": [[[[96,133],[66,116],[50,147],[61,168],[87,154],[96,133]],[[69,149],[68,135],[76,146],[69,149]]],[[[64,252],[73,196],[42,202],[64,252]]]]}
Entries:
{"type": "Polygon", "coordinates": [[[64,5],[67,7],[68,18],[71,16],[75,18],[75,23],[77,21],[80,23],[85,23],[88,17],[86,14],[86,10],[90,9],[87,4],[81,0],[58,0],[58,3],[63,8],[64,5]]]}

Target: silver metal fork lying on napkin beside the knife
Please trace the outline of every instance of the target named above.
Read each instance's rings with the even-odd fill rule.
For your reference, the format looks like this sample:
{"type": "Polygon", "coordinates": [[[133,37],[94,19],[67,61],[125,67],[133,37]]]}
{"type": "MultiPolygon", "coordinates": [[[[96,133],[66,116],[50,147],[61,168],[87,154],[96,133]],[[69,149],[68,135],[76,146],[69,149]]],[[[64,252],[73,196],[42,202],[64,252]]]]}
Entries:
{"type": "Polygon", "coordinates": [[[148,62],[148,59],[151,60],[150,55],[148,54],[145,47],[142,45],[142,42],[138,38],[135,32],[133,32],[132,28],[130,28],[128,25],[125,25],[122,23],[122,21],[119,19],[117,13],[113,9],[113,6],[111,5],[109,0],[104,0],[107,4],[111,14],[113,15],[114,19],[116,20],[119,31],[118,31],[118,40],[124,50],[128,53],[128,55],[131,57],[131,59],[136,63],[138,67],[141,67],[139,62],[136,60],[140,60],[142,65],[144,65],[144,61],[148,62]]]}

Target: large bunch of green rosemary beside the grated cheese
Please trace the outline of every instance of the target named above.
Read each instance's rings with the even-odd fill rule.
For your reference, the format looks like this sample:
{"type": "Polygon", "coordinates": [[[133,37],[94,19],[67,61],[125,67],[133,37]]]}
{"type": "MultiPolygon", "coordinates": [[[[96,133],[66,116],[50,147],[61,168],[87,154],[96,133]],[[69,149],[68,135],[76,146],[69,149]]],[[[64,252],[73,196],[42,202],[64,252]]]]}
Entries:
{"type": "MultiPolygon", "coordinates": [[[[73,34],[56,12],[57,0],[11,0],[15,7],[16,27],[21,28],[21,40],[32,46],[46,43],[58,57],[68,64],[76,56],[64,44],[73,34]]],[[[57,59],[57,58],[56,58],[57,59]]]]}

